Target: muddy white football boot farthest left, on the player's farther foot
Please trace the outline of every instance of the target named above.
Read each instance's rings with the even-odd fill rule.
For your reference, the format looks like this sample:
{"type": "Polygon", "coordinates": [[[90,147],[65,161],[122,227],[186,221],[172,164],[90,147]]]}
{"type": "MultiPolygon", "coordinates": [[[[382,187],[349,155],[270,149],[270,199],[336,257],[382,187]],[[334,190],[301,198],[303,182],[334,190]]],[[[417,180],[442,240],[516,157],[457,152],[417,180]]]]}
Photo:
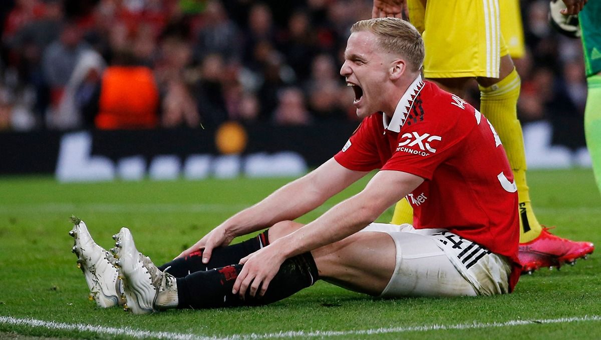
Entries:
{"type": "Polygon", "coordinates": [[[125,296],[121,280],[118,278],[115,258],[90,236],[84,221],[73,216],[73,229],[69,235],[75,239],[71,249],[77,255],[77,266],[84,272],[85,281],[90,288],[90,300],[102,308],[123,305],[125,296]]]}

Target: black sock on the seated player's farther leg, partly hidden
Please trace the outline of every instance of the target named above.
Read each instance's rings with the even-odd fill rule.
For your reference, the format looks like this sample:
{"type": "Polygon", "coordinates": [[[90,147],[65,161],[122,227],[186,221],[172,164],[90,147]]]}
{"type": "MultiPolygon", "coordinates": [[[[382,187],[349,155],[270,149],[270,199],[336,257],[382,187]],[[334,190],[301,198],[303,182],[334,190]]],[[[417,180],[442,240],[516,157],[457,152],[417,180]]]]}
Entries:
{"type": "Polygon", "coordinates": [[[198,271],[206,271],[229,266],[230,264],[237,264],[240,259],[246,257],[246,255],[252,254],[258,249],[269,245],[267,231],[269,230],[265,230],[263,233],[252,237],[252,239],[245,240],[244,242],[213,249],[213,254],[211,255],[209,263],[203,263],[204,249],[200,249],[189,256],[177,258],[165,263],[160,266],[159,269],[176,278],[183,278],[186,275],[198,271]]]}

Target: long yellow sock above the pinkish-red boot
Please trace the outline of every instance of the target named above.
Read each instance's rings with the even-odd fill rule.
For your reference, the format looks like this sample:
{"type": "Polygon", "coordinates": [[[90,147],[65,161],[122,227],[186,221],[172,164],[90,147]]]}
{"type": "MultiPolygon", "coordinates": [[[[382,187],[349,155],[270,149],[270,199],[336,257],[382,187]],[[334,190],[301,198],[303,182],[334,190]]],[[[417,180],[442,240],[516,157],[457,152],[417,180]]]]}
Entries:
{"type": "Polygon", "coordinates": [[[520,77],[515,69],[489,88],[480,86],[480,111],[499,134],[516,179],[519,198],[520,243],[524,243],[538,237],[542,227],[532,211],[528,185],[526,185],[526,155],[522,126],[517,120],[519,94],[520,77]]]}

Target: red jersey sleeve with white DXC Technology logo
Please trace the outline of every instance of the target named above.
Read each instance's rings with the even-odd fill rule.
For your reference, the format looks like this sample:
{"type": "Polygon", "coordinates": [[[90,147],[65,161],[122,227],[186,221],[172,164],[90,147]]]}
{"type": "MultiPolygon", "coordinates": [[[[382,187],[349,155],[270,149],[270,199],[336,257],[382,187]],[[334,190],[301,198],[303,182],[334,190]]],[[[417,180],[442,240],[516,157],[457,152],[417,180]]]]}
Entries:
{"type": "Polygon", "coordinates": [[[441,163],[460,151],[460,142],[475,127],[474,107],[456,107],[449,102],[424,106],[421,119],[407,120],[398,134],[397,148],[381,170],[404,171],[431,180],[441,163]]]}

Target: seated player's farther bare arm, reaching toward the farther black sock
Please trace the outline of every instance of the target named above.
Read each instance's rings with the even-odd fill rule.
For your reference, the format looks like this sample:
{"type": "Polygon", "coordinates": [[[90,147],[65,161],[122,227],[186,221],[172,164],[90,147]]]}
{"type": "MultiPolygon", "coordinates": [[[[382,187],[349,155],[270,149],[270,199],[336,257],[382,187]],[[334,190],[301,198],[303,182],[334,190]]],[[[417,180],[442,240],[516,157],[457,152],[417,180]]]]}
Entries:
{"type": "Polygon", "coordinates": [[[213,248],[228,245],[234,237],[270,227],[279,221],[296,219],[365,174],[367,171],[346,169],[332,158],[316,170],[277,189],[254,206],[231,216],[178,257],[204,248],[203,261],[208,262],[213,248]]]}

